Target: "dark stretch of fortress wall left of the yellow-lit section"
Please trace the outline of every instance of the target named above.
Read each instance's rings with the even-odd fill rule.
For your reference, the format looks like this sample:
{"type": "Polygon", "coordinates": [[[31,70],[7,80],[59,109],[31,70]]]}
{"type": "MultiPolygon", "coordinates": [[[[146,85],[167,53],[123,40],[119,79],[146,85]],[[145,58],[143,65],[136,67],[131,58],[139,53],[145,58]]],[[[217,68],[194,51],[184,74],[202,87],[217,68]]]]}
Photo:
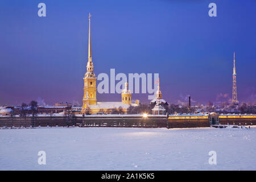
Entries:
{"type": "MultiPolygon", "coordinates": [[[[0,117],[0,127],[30,127],[32,126],[32,117],[0,117]]],[[[34,127],[42,126],[119,126],[119,127],[166,127],[166,117],[133,117],[133,116],[93,116],[93,117],[35,117],[34,127]]]]}

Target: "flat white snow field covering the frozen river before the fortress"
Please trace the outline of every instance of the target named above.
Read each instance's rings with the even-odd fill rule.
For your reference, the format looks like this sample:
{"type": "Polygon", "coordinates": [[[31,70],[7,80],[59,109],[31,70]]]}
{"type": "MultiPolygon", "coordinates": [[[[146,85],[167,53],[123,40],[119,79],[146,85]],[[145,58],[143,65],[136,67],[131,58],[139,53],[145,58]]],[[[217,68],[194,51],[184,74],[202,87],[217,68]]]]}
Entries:
{"type": "Polygon", "coordinates": [[[1,170],[255,170],[251,129],[53,127],[0,130],[1,170]],[[46,152],[46,165],[38,152],[46,152]],[[209,151],[217,164],[210,165],[209,151]]]}

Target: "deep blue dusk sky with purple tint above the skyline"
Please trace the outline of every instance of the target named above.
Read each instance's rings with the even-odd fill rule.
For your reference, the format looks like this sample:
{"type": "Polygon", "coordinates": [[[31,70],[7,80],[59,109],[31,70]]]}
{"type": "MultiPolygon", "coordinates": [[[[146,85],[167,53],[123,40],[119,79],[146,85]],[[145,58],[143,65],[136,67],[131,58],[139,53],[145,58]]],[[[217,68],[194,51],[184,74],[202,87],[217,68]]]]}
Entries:
{"type": "MultiPolygon", "coordinates": [[[[82,104],[92,14],[94,72],[159,73],[168,102],[256,100],[256,1],[0,1],[0,105],[82,104]],[[47,16],[38,17],[38,3],[47,16]],[[210,2],[217,17],[208,16],[210,2]],[[226,94],[226,95],[225,95],[226,94]],[[222,97],[224,95],[224,97],[222,97]]],[[[148,102],[147,94],[133,99],[148,102]]],[[[98,94],[98,101],[121,101],[98,94]]]]}

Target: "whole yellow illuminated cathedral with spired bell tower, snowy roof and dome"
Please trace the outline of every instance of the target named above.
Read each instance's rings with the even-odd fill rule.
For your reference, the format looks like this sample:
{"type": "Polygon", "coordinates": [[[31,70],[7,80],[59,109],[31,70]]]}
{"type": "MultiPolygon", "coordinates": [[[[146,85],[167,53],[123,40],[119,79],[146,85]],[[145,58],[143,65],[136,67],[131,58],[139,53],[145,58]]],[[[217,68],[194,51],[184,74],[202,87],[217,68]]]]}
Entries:
{"type": "Polygon", "coordinates": [[[121,102],[97,102],[97,77],[93,73],[92,47],[90,42],[90,14],[89,14],[89,45],[88,45],[88,63],[87,72],[84,76],[84,97],[82,98],[82,113],[90,111],[90,114],[98,112],[108,112],[109,109],[119,109],[122,107],[124,113],[130,105],[138,106],[139,102],[131,103],[131,90],[129,90],[126,80],[125,89],[122,90],[121,102]]]}

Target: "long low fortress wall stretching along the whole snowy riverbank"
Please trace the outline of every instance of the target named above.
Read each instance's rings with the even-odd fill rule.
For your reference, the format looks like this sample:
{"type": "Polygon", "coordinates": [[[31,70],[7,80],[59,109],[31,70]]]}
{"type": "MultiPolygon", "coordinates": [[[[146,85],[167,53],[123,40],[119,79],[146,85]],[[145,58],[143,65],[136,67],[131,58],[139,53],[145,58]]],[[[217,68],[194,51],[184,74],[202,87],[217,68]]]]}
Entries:
{"type": "MultiPolygon", "coordinates": [[[[221,125],[256,125],[256,118],[245,117],[219,117],[221,125]]],[[[189,127],[209,127],[209,118],[181,118],[169,117],[165,115],[148,115],[143,118],[142,115],[86,115],[85,117],[35,117],[34,126],[80,126],[80,127],[169,127],[169,128],[189,128],[189,127]],[[180,118],[180,119],[179,119],[180,118]],[[168,124],[167,124],[168,123],[168,124]]],[[[30,127],[32,126],[32,117],[0,117],[0,127],[30,127]]]]}

